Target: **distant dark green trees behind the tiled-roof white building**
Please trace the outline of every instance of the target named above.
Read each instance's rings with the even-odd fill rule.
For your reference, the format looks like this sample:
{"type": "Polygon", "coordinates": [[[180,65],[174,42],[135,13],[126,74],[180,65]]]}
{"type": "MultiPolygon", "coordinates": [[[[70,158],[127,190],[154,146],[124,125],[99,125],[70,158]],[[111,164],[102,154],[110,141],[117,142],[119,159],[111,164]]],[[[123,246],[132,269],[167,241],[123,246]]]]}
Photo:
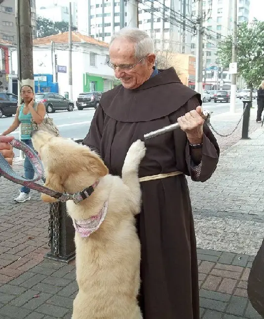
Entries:
{"type": "MultiPolygon", "coordinates": [[[[48,36],[52,36],[58,34],[59,32],[67,32],[68,31],[68,22],[65,21],[56,21],[53,22],[50,19],[42,18],[40,16],[37,17],[37,37],[44,38],[48,36]]],[[[73,31],[76,31],[76,27],[72,27],[73,31]]]]}

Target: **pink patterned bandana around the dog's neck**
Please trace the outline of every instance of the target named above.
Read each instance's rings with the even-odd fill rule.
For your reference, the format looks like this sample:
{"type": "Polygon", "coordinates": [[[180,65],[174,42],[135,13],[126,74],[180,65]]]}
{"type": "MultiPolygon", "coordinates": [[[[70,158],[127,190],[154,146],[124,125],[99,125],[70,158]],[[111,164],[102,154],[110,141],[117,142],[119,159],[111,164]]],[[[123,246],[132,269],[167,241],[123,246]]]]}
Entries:
{"type": "Polygon", "coordinates": [[[81,237],[90,236],[90,234],[95,232],[105,220],[107,209],[108,200],[104,202],[104,205],[100,210],[99,214],[82,221],[77,221],[73,219],[75,231],[77,231],[81,237]]]}

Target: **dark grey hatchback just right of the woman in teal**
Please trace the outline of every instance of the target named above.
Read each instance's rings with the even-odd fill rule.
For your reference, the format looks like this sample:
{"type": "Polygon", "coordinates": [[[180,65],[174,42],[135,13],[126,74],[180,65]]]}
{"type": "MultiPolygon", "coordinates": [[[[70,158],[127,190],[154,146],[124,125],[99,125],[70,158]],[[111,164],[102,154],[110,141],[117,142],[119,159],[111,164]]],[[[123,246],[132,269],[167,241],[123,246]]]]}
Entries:
{"type": "Polygon", "coordinates": [[[37,93],[35,99],[38,103],[43,103],[47,113],[54,113],[57,110],[74,110],[74,102],[58,93],[37,93]]]}

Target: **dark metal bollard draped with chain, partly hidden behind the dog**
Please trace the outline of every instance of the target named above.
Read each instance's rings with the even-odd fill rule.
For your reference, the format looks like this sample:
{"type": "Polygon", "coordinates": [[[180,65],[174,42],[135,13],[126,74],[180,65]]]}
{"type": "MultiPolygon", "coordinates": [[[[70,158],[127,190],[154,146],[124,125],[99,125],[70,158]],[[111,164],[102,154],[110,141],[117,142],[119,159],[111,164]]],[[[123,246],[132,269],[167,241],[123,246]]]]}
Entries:
{"type": "MultiPolygon", "coordinates": [[[[73,138],[77,143],[82,139],[73,138]]],[[[50,252],[44,258],[69,263],[75,259],[75,228],[67,214],[66,203],[56,202],[49,206],[48,244],[50,252]]]]}

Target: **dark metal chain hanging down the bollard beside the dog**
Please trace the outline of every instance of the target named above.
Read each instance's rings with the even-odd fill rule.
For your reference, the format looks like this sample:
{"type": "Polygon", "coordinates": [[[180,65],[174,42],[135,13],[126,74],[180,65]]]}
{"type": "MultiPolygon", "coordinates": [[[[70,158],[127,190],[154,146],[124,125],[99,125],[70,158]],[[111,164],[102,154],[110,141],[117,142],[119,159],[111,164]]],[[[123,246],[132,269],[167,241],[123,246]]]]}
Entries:
{"type": "Polygon", "coordinates": [[[53,245],[53,253],[55,256],[59,255],[59,231],[60,231],[60,218],[59,218],[59,203],[50,204],[50,218],[48,227],[48,244],[53,245]]]}

